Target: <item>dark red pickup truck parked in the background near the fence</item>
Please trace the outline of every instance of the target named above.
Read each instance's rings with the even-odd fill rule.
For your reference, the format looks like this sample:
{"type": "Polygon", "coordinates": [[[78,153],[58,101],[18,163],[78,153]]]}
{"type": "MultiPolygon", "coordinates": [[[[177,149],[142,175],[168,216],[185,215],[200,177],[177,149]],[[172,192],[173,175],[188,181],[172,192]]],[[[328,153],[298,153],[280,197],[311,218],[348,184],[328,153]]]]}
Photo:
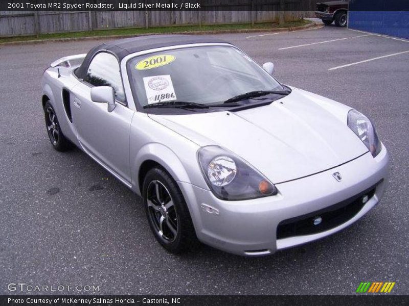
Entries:
{"type": "Polygon", "coordinates": [[[337,27],[346,27],[348,23],[348,0],[317,3],[315,16],[320,18],[325,25],[335,21],[337,27]]]}

